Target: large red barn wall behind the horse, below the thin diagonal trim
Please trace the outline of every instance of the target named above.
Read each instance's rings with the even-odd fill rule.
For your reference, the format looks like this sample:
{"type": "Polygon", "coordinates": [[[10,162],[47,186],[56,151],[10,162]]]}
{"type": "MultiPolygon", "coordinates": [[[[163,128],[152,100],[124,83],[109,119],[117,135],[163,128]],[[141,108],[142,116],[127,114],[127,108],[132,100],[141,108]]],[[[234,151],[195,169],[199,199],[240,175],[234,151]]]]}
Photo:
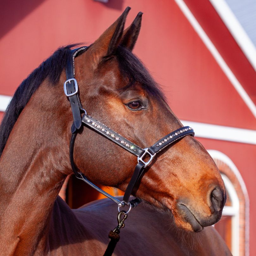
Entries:
{"type": "MultiPolygon", "coordinates": [[[[186,2],[191,5],[191,1],[186,2]]],[[[11,96],[21,81],[59,46],[77,42],[89,45],[128,5],[132,9],[127,25],[139,11],[144,13],[134,52],[162,85],[170,107],[180,119],[256,130],[253,114],[174,1],[5,1],[0,25],[0,94],[11,96]]],[[[233,51],[241,50],[234,45],[233,51]]],[[[239,77],[241,82],[248,80],[240,73],[239,77]]],[[[254,255],[256,146],[198,140],[206,149],[228,155],[241,172],[250,198],[250,253],[254,255]]]]}

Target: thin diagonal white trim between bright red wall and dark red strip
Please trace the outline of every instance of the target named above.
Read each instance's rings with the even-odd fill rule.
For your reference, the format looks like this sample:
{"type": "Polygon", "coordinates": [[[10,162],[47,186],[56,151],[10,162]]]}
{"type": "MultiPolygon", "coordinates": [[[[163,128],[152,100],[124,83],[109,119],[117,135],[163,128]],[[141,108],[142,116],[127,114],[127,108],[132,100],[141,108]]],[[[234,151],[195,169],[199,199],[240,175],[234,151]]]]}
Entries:
{"type": "Polygon", "coordinates": [[[256,106],[245,91],[245,89],[242,87],[241,83],[237,80],[233,72],[230,70],[227,63],[224,61],[224,59],[221,57],[220,53],[216,49],[216,47],[211,42],[210,38],[207,36],[207,34],[204,32],[203,28],[200,26],[190,9],[186,6],[186,3],[184,3],[183,0],[175,0],[177,5],[180,7],[181,11],[187,18],[187,20],[190,22],[194,30],[197,32],[198,36],[201,38],[201,40],[204,42],[207,49],[210,51],[212,56],[215,58],[216,62],[221,67],[224,74],[228,77],[231,84],[234,86],[238,94],[241,96],[247,107],[251,110],[254,117],[256,118],[256,106]]]}

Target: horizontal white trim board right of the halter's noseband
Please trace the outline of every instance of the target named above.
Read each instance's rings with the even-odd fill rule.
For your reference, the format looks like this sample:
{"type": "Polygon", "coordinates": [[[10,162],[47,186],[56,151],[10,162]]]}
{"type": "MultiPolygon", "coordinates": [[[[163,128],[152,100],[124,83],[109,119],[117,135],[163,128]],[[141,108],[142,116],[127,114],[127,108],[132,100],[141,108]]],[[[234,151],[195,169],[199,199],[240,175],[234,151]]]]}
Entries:
{"type": "Polygon", "coordinates": [[[192,121],[180,120],[185,126],[190,126],[195,131],[196,137],[216,140],[234,141],[256,145],[256,131],[235,127],[211,125],[192,121]]]}

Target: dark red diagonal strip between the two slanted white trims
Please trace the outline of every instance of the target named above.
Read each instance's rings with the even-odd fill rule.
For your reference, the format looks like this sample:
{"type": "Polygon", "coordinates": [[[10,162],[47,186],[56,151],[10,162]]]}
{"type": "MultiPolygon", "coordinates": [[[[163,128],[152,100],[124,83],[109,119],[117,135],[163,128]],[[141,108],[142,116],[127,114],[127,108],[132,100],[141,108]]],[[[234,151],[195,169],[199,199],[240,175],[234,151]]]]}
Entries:
{"type": "Polygon", "coordinates": [[[198,0],[197,4],[192,0],[185,2],[256,104],[256,72],[211,3],[205,0],[198,0]]]}

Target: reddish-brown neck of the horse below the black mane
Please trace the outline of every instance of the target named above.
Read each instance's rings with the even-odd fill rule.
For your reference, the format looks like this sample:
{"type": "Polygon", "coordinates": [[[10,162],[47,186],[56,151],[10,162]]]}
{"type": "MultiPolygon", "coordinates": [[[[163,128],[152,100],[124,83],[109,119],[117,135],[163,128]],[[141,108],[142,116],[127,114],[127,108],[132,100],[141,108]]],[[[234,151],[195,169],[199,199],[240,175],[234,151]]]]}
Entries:
{"type": "Polygon", "coordinates": [[[44,100],[43,89],[22,111],[0,159],[0,247],[6,255],[45,248],[52,207],[70,171],[62,125],[54,123],[58,114],[35,106],[44,100]]]}

